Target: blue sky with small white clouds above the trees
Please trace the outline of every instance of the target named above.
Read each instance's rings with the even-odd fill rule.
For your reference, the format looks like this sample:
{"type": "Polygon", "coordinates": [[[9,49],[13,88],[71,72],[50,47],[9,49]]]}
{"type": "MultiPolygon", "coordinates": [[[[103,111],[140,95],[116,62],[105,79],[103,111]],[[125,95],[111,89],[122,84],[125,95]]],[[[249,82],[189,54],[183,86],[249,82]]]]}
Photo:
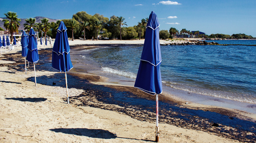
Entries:
{"type": "Polygon", "coordinates": [[[18,18],[70,19],[76,12],[86,11],[108,18],[122,16],[128,26],[134,26],[152,10],[160,30],[175,27],[208,35],[245,33],[256,37],[256,0],[2,0],[0,17],[13,11],[18,18]]]}

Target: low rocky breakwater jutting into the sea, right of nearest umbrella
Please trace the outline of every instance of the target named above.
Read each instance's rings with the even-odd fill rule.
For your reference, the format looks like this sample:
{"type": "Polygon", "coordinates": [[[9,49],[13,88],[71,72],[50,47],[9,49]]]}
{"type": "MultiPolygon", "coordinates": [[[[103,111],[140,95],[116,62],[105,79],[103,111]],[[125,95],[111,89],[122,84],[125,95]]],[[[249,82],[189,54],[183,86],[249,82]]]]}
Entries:
{"type": "Polygon", "coordinates": [[[166,43],[160,43],[160,45],[209,45],[209,44],[218,44],[216,42],[206,42],[205,40],[188,40],[188,41],[171,41],[166,43]]]}

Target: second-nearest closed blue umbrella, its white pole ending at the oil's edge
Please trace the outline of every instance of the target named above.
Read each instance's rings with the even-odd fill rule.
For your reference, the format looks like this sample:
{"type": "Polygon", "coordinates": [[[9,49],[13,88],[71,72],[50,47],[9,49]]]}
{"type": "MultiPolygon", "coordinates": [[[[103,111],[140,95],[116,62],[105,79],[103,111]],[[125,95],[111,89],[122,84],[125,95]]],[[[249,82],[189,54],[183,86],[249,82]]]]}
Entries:
{"type": "Polygon", "coordinates": [[[66,30],[67,27],[63,21],[61,21],[53,44],[52,67],[59,72],[65,72],[67,102],[69,104],[67,71],[70,71],[73,68],[73,65],[70,59],[70,47],[66,30]]]}

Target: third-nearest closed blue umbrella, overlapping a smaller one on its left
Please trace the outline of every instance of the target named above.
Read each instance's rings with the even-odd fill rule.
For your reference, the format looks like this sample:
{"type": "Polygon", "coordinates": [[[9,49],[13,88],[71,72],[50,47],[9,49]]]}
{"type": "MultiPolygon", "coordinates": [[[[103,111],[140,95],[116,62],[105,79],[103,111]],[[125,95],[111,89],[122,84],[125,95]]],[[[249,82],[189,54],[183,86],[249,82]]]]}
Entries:
{"type": "MultiPolygon", "coordinates": [[[[29,32],[29,45],[28,45],[28,55],[27,60],[34,64],[34,72],[35,72],[35,63],[38,62],[39,56],[37,51],[37,42],[35,37],[35,31],[33,28],[30,29],[29,32]]],[[[36,75],[35,75],[35,86],[36,86],[36,75]]]]}

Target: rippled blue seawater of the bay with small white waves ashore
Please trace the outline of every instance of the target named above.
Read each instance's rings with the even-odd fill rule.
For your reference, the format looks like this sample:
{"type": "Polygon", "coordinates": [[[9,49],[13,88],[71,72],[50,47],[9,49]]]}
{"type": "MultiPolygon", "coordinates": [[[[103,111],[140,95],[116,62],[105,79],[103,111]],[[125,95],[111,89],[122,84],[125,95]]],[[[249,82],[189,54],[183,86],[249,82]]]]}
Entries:
{"type": "MultiPolygon", "coordinates": [[[[215,42],[256,45],[256,40],[215,42]]],[[[256,46],[168,45],[160,48],[160,69],[165,86],[189,93],[256,103],[256,46]]],[[[110,46],[80,51],[75,58],[93,64],[102,72],[135,79],[142,49],[143,45],[110,46]]]]}

